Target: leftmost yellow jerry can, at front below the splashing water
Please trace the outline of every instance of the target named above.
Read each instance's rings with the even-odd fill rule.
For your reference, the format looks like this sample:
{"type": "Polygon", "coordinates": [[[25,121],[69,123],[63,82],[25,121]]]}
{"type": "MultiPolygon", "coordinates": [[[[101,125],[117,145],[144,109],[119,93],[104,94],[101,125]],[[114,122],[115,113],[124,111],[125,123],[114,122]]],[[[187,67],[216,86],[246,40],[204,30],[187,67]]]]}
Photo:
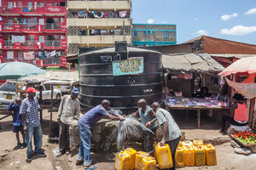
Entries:
{"type": "Polygon", "coordinates": [[[123,151],[120,151],[115,156],[114,167],[116,168],[116,170],[130,170],[130,160],[131,156],[123,151]]]}

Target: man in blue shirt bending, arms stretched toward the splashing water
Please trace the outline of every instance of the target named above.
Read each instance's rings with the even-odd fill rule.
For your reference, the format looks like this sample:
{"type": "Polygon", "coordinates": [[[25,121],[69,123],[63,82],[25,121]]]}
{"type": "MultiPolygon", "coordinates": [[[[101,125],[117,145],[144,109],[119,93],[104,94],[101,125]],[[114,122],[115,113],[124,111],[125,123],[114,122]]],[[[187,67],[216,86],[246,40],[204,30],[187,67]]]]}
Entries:
{"type": "Polygon", "coordinates": [[[108,116],[111,119],[116,119],[122,121],[123,118],[118,116],[113,116],[108,113],[108,108],[110,102],[108,99],[103,99],[101,105],[97,105],[92,108],[90,111],[87,111],[84,116],[79,118],[78,127],[80,134],[80,148],[79,156],[77,158],[77,164],[84,161],[84,169],[95,169],[95,165],[91,165],[90,157],[90,128],[94,127],[96,122],[99,122],[103,116],[108,116]]]}

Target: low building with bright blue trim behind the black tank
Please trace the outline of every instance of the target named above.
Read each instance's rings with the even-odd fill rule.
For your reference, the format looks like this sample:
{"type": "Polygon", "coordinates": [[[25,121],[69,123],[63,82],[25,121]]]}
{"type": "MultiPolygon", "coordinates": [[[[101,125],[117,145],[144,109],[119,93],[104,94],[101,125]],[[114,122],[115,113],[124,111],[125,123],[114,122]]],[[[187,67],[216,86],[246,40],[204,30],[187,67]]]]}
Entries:
{"type": "Polygon", "coordinates": [[[134,47],[177,44],[176,25],[133,24],[131,36],[134,47]]]}

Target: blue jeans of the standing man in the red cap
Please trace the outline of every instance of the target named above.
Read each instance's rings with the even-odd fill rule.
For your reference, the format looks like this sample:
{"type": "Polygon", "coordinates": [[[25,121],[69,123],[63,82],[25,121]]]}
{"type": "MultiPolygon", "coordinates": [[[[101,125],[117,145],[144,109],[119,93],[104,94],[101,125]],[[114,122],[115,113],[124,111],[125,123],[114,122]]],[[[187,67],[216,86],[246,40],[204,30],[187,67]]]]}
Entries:
{"type": "Polygon", "coordinates": [[[32,127],[32,125],[29,123],[26,123],[26,127],[26,156],[32,156],[32,136],[34,136],[35,151],[38,152],[42,148],[42,129],[40,125],[38,127],[32,127]]]}

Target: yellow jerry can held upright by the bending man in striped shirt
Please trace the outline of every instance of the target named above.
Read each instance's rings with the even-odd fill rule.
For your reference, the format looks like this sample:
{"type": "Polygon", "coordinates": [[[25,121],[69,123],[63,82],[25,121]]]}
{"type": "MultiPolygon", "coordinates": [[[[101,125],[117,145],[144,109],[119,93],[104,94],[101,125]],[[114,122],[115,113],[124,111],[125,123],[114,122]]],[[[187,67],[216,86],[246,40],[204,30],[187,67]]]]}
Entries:
{"type": "Polygon", "coordinates": [[[168,144],[165,144],[164,146],[160,146],[160,144],[155,145],[155,155],[160,169],[173,166],[171,150],[168,144]]]}

